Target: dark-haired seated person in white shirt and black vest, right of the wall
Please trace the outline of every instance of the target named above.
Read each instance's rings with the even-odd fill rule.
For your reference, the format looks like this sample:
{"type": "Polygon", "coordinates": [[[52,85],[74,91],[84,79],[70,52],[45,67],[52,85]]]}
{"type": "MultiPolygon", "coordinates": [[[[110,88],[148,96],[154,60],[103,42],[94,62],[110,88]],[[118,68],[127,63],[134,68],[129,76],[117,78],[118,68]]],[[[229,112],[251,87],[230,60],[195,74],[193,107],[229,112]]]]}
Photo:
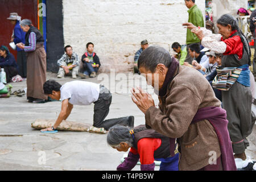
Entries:
{"type": "Polygon", "coordinates": [[[200,46],[198,44],[190,44],[188,48],[189,55],[194,59],[192,61],[193,67],[196,63],[199,63],[204,68],[209,68],[209,58],[204,52],[200,52],[200,46]]]}

